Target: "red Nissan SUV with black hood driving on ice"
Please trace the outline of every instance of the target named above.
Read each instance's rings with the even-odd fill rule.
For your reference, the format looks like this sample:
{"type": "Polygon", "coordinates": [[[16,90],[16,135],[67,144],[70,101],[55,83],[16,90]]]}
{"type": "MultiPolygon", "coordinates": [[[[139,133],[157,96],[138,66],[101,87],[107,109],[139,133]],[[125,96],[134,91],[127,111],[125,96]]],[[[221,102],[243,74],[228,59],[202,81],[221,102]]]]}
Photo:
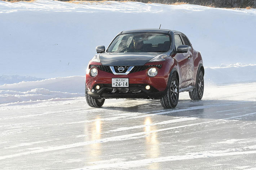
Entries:
{"type": "Polygon", "coordinates": [[[200,52],[181,32],[167,29],[122,31],[110,43],[96,47],[85,77],[85,96],[91,107],[106,98],[160,99],[176,107],[179,92],[200,100],[204,67],[200,52]]]}

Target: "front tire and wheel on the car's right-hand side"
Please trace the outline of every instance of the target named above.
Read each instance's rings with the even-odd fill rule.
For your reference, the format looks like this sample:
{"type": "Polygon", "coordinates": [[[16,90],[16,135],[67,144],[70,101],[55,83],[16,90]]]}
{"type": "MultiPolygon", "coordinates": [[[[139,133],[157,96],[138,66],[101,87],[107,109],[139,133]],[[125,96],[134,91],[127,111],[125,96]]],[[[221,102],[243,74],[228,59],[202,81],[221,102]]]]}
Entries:
{"type": "Polygon", "coordinates": [[[174,108],[177,106],[179,100],[179,83],[176,76],[173,74],[171,83],[167,93],[160,99],[161,105],[164,108],[174,108]]]}

